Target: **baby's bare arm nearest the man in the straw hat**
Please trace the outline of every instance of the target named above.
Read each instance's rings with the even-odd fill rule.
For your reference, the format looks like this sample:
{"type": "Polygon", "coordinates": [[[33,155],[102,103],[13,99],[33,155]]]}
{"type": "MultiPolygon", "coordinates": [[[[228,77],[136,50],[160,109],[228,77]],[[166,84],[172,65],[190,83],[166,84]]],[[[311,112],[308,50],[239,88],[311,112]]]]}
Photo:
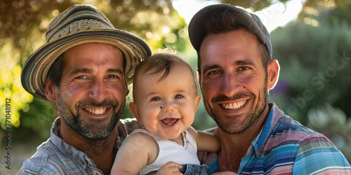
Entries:
{"type": "Polygon", "coordinates": [[[119,148],[111,174],[138,174],[156,159],[158,152],[159,146],[152,137],[143,133],[131,134],[119,148]]]}

